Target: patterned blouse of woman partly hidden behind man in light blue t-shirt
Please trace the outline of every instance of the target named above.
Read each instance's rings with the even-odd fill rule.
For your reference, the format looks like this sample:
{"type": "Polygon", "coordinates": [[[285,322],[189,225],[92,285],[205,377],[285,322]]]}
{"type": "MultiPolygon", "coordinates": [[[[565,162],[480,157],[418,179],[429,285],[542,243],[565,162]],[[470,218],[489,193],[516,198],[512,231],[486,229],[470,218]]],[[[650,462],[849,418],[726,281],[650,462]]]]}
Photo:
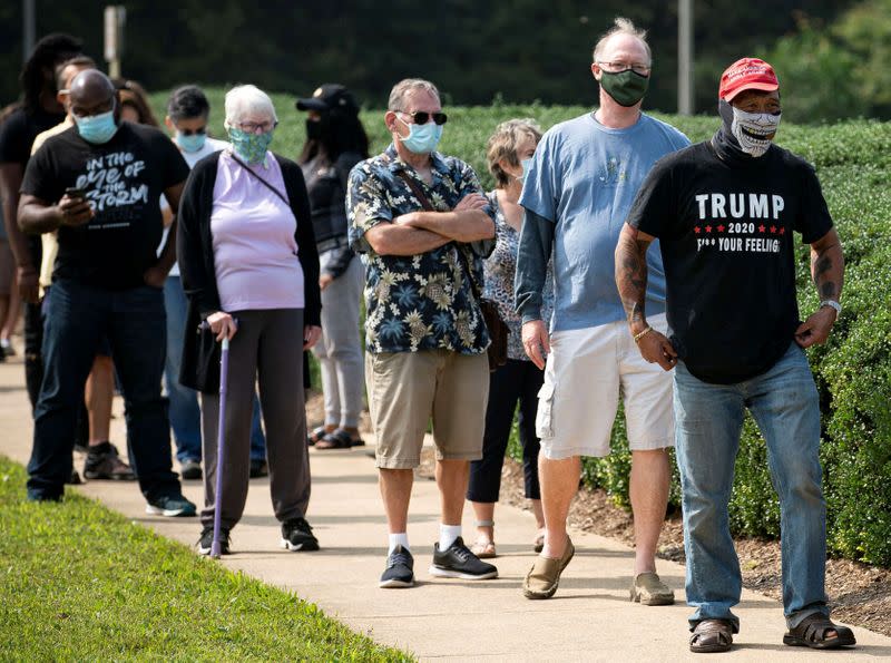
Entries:
{"type": "MultiPolygon", "coordinates": [[[[483,263],[486,287],[482,296],[498,304],[498,313],[508,325],[508,359],[531,361],[522,348],[522,318],[517,313],[513,299],[513,276],[517,274],[517,253],[520,248],[520,233],[513,230],[498,204],[496,192],[486,194],[495,209],[496,244],[491,255],[483,263]]],[[[541,319],[549,321],[554,313],[554,269],[548,263],[545,274],[545,289],[541,293],[541,319]]]]}

